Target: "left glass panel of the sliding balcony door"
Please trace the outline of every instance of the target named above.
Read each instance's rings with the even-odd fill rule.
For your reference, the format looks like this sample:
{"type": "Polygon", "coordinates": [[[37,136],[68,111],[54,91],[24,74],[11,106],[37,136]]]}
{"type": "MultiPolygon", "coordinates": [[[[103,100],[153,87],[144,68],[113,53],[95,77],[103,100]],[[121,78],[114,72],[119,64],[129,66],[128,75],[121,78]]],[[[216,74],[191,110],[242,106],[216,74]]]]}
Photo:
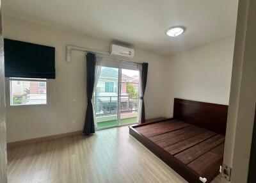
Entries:
{"type": "Polygon", "coordinates": [[[118,68],[101,68],[95,90],[94,107],[98,129],[117,125],[118,68]]]}

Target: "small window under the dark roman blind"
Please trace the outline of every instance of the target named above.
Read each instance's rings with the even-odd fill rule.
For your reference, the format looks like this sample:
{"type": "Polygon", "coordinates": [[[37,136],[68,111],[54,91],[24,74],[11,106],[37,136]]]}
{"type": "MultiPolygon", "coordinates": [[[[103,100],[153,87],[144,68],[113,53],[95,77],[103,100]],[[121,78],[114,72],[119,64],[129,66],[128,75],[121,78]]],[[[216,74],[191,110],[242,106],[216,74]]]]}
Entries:
{"type": "Polygon", "coordinates": [[[10,78],[11,106],[47,104],[46,79],[10,78]]]}

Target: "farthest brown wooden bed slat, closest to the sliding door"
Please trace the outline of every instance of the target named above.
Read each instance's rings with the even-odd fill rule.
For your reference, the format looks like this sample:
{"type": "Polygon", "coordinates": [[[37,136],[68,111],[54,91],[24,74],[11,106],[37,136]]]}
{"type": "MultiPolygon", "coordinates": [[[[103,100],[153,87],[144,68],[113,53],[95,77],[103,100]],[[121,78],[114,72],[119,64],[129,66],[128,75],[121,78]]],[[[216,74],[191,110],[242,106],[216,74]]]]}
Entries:
{"type": "Polygon", "coordinates": [[[143,136],[150,138],[153,136],[157,136],[159,134],[164,134],[166,132],[171,132],[178,129],[182,129],[184,127],[188,127],[188,125],[189,125],[188,123],[184,123],[184,122],[173,122],[173,123],[168,123],[168,125],[165,125],[164,127],[150,129],[147,132],[143,132],[142,134],[143,136]]]}

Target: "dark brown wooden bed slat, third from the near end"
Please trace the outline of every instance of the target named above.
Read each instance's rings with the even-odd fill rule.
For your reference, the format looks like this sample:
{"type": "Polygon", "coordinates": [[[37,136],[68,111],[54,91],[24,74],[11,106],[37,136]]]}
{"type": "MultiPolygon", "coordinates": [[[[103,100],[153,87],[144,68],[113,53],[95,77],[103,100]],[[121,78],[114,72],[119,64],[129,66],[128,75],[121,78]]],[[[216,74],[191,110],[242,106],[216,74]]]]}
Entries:
{"type": "Polygon", "coordinates": [[[182,152],[190,147],[193,147],[194,145],[196,145],[202,141],[205,141],[205,139],[211,138],[215,135],[216,135],[216,132],[205,130],[205,132],[202,132],[201,134],[193,136],[192,138],[188,138],[183,141],[180,141],[179,143],[170,145],[170,146],[164,148],[164,150],[168,151],[172,155],[179,154],[180,152],[182,152]]]}

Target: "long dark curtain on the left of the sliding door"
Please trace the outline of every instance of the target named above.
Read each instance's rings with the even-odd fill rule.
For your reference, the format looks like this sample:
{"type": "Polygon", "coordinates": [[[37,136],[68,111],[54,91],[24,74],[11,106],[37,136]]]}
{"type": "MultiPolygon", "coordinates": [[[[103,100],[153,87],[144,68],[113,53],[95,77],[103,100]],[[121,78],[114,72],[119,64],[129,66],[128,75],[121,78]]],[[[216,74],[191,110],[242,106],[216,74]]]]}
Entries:
{"type": "Polygon", "coordinates": [[[95,65],[96,56],[95,54],[86,54],[86,75],[87,75],[87,109],[84,122],[84,135],[95,133],[94,117],[93,117],[93,87],[95,83],[95,65]]]}

